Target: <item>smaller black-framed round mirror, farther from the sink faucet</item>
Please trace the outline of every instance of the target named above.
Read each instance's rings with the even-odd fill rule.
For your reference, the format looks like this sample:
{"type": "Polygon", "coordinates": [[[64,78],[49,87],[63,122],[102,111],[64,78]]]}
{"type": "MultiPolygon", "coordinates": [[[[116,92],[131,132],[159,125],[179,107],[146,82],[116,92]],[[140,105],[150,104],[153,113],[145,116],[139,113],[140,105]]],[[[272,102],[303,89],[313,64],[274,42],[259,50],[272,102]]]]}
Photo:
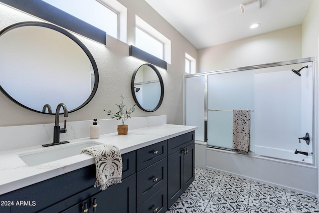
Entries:
{"type": "Polygon", "coordinates": [[[164,84],[159,70],[152,64],[138,67],[132,77],[131,90],[136,104],[142,110],[157,110],[164,97],[164,84]]]}

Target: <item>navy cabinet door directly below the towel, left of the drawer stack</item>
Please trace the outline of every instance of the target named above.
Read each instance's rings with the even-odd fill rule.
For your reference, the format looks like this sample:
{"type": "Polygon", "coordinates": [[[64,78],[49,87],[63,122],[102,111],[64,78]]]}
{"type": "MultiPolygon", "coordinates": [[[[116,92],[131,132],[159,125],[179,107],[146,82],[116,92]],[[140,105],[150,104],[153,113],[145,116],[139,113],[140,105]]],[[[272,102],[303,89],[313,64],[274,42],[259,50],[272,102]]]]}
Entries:
{"type": "Polygon", "coordinates": [[[89,212],[136,213],[136,175],[92,196],[89,199],[89,212]],[[93,207],[94,204],[96,207],[93,207]]]}

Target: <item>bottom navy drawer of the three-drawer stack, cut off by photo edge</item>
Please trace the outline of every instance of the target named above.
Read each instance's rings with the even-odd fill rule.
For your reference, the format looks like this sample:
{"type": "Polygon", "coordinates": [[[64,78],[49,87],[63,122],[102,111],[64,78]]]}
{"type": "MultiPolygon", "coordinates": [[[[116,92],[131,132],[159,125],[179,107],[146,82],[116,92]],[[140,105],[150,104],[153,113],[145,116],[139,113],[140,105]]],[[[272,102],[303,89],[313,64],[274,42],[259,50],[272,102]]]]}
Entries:
{"type": "Polygon", "coordinates": [[[165,213],[167,210],[167,186],[165,185],[149,200],[142,204],[137,213],[165,213]]]}

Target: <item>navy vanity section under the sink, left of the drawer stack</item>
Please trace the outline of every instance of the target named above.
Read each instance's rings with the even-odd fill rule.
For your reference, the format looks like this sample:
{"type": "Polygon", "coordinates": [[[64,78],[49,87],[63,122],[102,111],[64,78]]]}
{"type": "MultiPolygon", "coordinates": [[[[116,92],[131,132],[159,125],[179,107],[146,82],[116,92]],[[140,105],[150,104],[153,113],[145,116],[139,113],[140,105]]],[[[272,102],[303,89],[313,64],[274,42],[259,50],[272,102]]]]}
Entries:
{"type": "Polygon", "coordinates": [[[122,155],[122,183],[105,191],[94,188],[95,165],[90,165],[13,192],[0,195],[3,201],[25,201],[28,205],[11,206],[1,213],[117,213],[136,212],[136,152],[122,155]],[[93,207],[96,202],[96,208],[93,207]],[[34,205],[33,205],[34,204],[34,205]],[[118,211],[119,210],[119,211],[118,211]]]}

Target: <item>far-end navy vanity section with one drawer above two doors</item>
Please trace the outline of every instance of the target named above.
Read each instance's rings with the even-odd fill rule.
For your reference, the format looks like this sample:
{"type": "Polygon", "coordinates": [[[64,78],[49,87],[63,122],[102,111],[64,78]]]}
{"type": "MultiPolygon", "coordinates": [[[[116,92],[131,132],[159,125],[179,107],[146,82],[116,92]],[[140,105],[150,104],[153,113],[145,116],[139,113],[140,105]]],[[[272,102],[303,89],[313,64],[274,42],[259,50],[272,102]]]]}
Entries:
{"type": "Polygon", "coordinates": [[[168,208],[194,181],[194,148],[194,131],[168,140],[168,208]]]}

